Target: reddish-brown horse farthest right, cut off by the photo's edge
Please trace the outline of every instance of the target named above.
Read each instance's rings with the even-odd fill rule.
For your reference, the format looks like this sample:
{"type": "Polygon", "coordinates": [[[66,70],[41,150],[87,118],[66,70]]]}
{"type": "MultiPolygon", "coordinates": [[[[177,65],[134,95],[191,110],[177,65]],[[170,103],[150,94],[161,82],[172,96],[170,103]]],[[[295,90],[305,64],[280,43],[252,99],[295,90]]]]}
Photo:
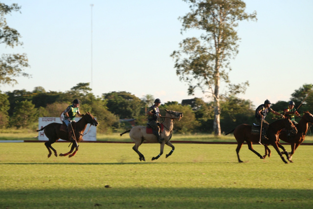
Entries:
{"type": "MultiPolygon", "coordinates": [[[[300,119],[299,123],[296,124],[296,128],[298,130],[297,134],[295,136],[289,135],[287,130],[283,129],[280,134],[279,134],[279,139],[278,139],[278,146],[280,147],[281,144],[279,143],[279,140],[286,141],[288,143],[291,143],[291,152],[288,153],[290,154],[289,156],[289,161],[291,163],[292,160],[292,155],[294,154],[295,150],[298,148],[298,146],[304,141],[305,136],[309,130],[309,123],[313,123],[313,115],[309,113],[308,111],[304,112],[304,115],[300,119]]],[[[270,156],[270,150],[267,145],[265,145],[265,155],[270,156]]]]}

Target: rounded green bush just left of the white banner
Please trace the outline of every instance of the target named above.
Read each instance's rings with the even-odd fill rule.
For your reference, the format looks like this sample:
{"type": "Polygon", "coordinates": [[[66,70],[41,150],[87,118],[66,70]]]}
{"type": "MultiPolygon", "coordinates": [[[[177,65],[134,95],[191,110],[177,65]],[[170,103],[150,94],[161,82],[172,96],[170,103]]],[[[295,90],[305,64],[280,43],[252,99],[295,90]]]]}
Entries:
{"type": "Polygon", "coordinates": [[[37,120],[37,108],[34,104],[27,100],[15,103],[13,116],[10,117],[12,127],[30,128],[37,120]]]}

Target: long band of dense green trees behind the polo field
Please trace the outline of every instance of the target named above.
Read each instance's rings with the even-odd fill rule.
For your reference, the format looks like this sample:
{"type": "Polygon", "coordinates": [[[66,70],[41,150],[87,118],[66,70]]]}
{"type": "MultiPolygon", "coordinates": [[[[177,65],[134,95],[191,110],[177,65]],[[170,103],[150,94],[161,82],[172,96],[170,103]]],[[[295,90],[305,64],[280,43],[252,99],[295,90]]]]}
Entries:
{"type": "MultiPolygon", "coordinates": [[[[291,94],[291,100],[298,112],[313,112],[312,84],[304,84],[291,94]],[[308,96],[309,95],[309,96],[308,96]]],[[[147,108],[153,105],[154,97],[151,94],[138,98],[132,93],[110,92],[102,96],[91,93],[89,83],[78,83],[66,92],[46,92],[43,87],[36,87],[32,92],[14,90],[0,92],[0,128],[38,128],[38,117],[59,117],[61,113],[78,98],[81,101],[80,111],[90,112],[100,123],[99,133],[112,133],[131,128],[130,123],[120,119],[134,119],[136,125],[146,125],[147,108]]],[[[266,98],[265,98],[266,99],[266,98]]],[[[283,113],[289,101],[278,101],[271,105],[276,112],[283,113]]],[[[259,105],[259,104],[258,104],[259,105]]],[[[258,106],[257,105],[257,106],[258,106]]],[[[175,124],[177,133],[214,133],[214,101],[205,102],[202,98],[168,101],[159,107],[161,115],[165,109],[179,111],[184,117],[175,124]]],[[[236,127],[239,124],[252,124],[254,121],[255,106],[250,100],[230,96],[221,99],[221,131],[236,127]]],[[[268,122],[273,122],[274,115],[269,115],[268,122]]],[[[296,118],[299,120],[300,118],[296,118]]]]}

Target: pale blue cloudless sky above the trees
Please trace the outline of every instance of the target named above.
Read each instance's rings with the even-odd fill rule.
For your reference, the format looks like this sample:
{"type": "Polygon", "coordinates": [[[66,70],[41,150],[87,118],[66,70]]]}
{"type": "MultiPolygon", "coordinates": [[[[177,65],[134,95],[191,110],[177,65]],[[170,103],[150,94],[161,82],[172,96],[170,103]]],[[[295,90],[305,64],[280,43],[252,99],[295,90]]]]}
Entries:
{"type": "MultiPolygon", "coordinates": [[[[230,60],[229,79],[249,81],[238,95],[258,106],[289,101],[304,84],[312,84],[313,0],[244,0],[257,21],[237,27],[239,53],[230,60]]],[[[194,97],[210,101],[196,90],[188,95],[170,57],[186,37],[180,16],[190,11],[183,0],[1,0],[18,3],[21,13],[6,16],[21,35],[22,46],[0,45],[0,54],[26,53],[31,78],[17,77],[0,91],[66,92],[90,83],[92,93],[126,91],[143,98],[151,94],[162,103],[194,97]],[[93,4],[93,6],[90,6],[93,4]]],[[[221,88],[220,92],[227,91],[221,88]]]]}

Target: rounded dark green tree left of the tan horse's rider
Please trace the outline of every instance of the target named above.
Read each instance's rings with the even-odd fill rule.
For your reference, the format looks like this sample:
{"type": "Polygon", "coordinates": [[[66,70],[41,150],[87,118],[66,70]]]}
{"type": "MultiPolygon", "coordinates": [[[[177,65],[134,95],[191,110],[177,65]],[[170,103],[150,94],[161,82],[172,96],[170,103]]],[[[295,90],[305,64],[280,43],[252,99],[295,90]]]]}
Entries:
{"type": "Polygon", "coordinates": [[[119,118],[135,118],[140,115],[140,110],[145,104],[135,95],[128,92],[104,93],[108,110],[119,118]]]}

